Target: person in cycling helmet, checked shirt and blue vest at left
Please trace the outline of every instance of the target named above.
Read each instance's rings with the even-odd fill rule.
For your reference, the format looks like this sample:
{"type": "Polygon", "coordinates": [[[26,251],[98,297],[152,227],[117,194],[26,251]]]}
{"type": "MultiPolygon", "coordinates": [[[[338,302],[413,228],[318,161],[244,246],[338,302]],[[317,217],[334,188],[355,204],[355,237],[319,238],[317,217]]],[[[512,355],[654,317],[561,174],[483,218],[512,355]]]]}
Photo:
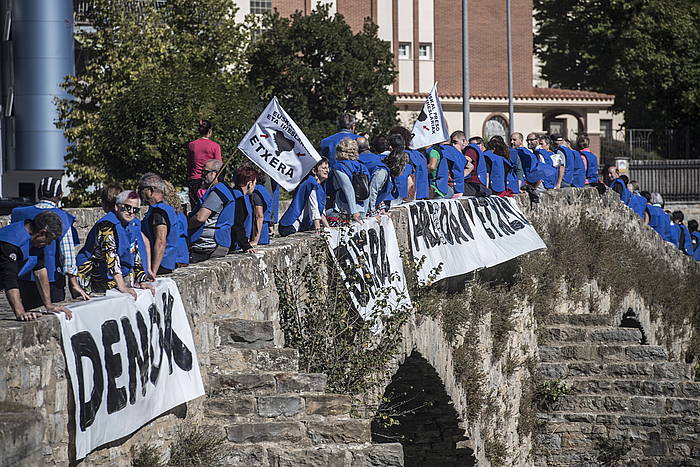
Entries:
{"type": "MultiPolygon", "coordinates": [[[[19,222],[34,219],[39,213],[48,209],[56,213],[63,222],[63,235],[55,242],[44,249],[44,263],[51,284],[51,297],[54,302],[62,302],[66,297],[66,278],[68,278],[68,289],[73,298],[88,300],[87,292],[80,287],[77,278],[78,266],[76,263],[76,245],[78,232],[73,226],[75,217],[67,213],[58,205],[63,197],[63,188],[59,178],[44,177],[41,179],[37,190],[39,202],[33,206],[14,208],[10,216],[10,222],[19,222]]],[[[35,277],[31,272],[20,278],[20,288],[33,291],[35,288],[35,277]]],[[[37,297],[37,306],[39,301],[37,297]]]]}

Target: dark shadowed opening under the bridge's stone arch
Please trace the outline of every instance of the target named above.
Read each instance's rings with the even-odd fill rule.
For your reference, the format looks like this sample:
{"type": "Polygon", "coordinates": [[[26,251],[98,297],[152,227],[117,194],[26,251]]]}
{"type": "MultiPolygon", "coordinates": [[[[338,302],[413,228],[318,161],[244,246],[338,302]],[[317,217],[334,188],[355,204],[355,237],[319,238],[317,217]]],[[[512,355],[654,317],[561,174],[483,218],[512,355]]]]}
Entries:
{"type": "Polygon", "coordinates": [[[400,442],[406,467],[472,466],[473,451],[435,369],[418,352],[399,367],[372,422],[372,442],[400,442]]]}

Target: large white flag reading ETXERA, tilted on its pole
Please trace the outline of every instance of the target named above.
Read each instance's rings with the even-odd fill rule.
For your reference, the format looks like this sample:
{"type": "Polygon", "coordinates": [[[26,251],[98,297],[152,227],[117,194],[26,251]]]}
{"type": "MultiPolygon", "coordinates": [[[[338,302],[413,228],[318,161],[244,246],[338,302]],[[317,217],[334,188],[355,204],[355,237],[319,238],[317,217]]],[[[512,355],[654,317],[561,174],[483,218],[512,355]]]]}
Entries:
{"type": "Polygon", "coordinates": [[[292,191],[321,156],[273,97],[238,149],[282,188],[292,191]]]}

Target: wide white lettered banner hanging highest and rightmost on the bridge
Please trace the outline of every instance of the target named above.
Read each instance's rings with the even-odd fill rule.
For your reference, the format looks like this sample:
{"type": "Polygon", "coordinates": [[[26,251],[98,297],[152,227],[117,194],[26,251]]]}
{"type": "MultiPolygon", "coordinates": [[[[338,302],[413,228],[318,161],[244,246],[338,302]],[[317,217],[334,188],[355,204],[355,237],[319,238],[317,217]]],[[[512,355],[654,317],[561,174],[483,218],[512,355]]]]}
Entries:
{"type": "Polygon", "coordinates": [[[513,198],[416,201],[406,208],[411,250],[422,262],[418,278],[424,282],[547,248],[513,198]]]}

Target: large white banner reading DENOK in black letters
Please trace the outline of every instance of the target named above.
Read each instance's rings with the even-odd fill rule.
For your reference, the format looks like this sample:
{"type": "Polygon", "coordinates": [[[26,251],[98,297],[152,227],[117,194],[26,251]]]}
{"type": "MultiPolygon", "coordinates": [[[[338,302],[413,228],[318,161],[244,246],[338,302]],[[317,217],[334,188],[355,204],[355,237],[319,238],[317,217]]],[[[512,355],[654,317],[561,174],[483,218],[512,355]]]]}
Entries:
{"type": "Polygon", "coordinates": [[[71,305],[71,320],[59,315],[77,459],[204,395],[177,286],[159,279],[155,288],[155,297],[108,294],[71,305]]]}

